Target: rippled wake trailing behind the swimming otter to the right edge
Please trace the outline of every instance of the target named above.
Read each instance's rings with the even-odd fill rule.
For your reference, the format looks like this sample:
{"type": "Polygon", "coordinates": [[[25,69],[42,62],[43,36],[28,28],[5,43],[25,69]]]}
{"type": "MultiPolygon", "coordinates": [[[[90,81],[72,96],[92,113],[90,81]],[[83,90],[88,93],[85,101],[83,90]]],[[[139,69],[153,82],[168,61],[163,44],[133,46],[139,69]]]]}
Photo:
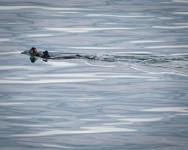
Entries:
{"type": "MultiPolygon", "coordinates": [[[[28,51],[22,54],[29,55],[28,51]]],[[[132,69],[145,72],[148,74],[172,74],[183,77],[188,77],[185,71],[188,69],[188,54],[170,54],[160,55],[152,53],[112,53],[112,54],[83,54],[83,53],[58,53],[49,52],[50,58],[48,60],[71,60],[79,59],[89,66],[95,67],[115,67],[115,63],[128,64],[132,69]],[[93,64],[97,62],[97,64],[93,64]],[[110,65],[104,65],[102,62],[109,62],[110,65]],[[113,64],[111,64],[113,63],[113,64]],[[168,71],[147,71],[140,69],[138,66],[152,67],[152,69],[166,69],[168,71]]]]}

